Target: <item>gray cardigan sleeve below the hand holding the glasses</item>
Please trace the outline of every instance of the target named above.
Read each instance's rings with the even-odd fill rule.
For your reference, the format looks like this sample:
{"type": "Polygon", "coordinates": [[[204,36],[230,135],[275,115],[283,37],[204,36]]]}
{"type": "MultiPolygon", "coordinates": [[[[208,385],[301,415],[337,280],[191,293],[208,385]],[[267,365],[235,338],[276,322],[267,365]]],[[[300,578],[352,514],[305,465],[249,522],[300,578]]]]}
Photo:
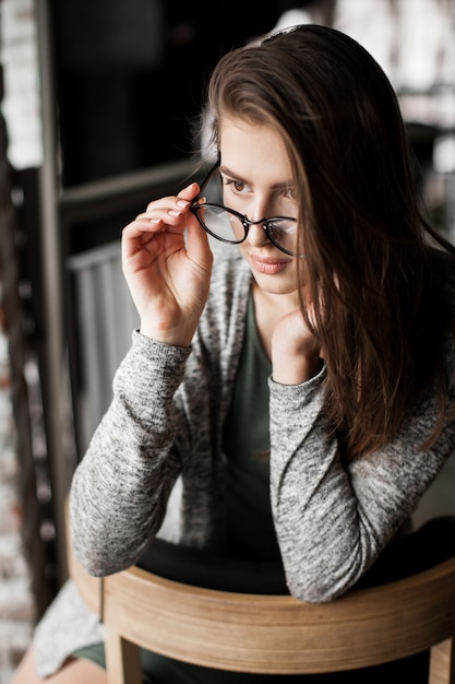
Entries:
{"type": "Polygon", "coordinates": [[[181,470],[176,434],[180,445],[188,438],[173,396],[189,355],[189,349],[133,333],[115,376],[111,405],[70,491],[74,550],[92,575],[132,565],[163,522],[181,470]]]}

